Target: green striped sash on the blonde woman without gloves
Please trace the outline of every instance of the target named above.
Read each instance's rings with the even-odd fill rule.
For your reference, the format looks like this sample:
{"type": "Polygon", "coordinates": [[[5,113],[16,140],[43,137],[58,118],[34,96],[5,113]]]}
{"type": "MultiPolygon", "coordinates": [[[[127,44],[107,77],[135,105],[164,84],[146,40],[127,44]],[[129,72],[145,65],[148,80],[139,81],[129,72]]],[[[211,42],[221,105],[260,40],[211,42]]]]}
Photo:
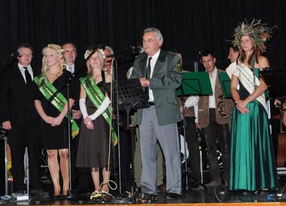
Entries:
{"type": "MultiPolygon", "coordinates": [[[[44,97],[46,97],[46,99],[49,99],[57,91],[57,89],[50,83],[46,76],[43,78],[41,83],[39,83],[39,78],[41,78],[41,76],[36,76],[34,81],[37,84],[39,91],[44,95],[44,97]]],[[[53,98],[51,103],[57,110],[62,112],[62,109],[66,103],[66,98],[59,92],[57,96],[53,98]]],[[[77,123],[73,121],[73,117],[71,116],[71,136],[74,138],[79,132],[80,128],[78,127],[77,123]]]]}

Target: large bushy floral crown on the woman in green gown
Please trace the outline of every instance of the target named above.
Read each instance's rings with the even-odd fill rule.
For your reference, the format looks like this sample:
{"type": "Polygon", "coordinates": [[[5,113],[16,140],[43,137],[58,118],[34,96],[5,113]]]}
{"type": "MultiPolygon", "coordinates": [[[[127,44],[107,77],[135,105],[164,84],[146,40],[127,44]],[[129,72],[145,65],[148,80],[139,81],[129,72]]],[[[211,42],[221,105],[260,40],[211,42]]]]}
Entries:
{"type": "Polygon", "coordinates": [[[253,37],[254,44],[259,46],[259,49],[263,51],[265,49],[266,41],[271,38],[271,34],[274,33],[274,28],[278,26],[267,27],[267,24],[260,23],[261,20],[253,19],[251,24],[247,24],[247,20],[238,24],[233,33],[233,40],[231,41],[233,46],[240,48],[240,37],[243,35],[249,35],[253,37]]]}

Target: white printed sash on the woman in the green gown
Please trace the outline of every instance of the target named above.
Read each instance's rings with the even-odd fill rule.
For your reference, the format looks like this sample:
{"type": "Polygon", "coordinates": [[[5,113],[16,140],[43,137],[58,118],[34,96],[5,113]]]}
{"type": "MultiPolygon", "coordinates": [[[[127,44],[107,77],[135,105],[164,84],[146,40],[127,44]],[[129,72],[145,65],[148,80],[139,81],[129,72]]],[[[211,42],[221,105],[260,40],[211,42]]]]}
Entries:
{"type": "MultiPolygon", "coordinates": [[[[251,71],[251,69],[249,69],[249,67],[247,67],[247,65],[244,65],[242,63],[238,63],[238,65],[236,65],[236,62],[231,63],[231,65],[227,67],[226,73],[229,75],[229,78],[231,78],[232,74],[235,76],[238,76],[240,82],[245,87],[245,89],[247,89],[249,94],[251,94],[254,91],[255,85],[256,87],[260,85],[260,80],[258,79],[257,76],[255,76],[255,85],[254,85],[253,72],[251,71]]],[[[239,85],[238,85],[238,89],[239,89],[239,85]]],[[[265,94],[258,96],[256,100],[258,100],[260,104],[267,111],[265,94]]]]}

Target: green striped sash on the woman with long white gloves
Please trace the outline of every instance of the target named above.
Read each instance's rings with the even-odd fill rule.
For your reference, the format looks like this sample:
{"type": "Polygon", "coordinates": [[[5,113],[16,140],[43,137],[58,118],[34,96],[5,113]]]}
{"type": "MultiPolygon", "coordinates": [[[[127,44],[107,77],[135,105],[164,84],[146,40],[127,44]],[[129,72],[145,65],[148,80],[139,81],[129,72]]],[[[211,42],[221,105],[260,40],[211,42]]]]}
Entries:
{"type": "MultiPolygon", "coordinates": [[[[105,94],[101,92],[98,85],[96,85],[96,82],[93,80],[91,75],[84,76],[80,78],[80,83],[82,87],[84,88],[85,92],[87,93],[87,96],[89,96],[89,99],[91,100],[91,103],[98,109],[102,103],[102,101],[105,99],[105,94]]],[[[118,143],[118,138],[116,135],[116,132],[114,132],[114,128],[111,125],[111,119],[110,119],[110,108],[108,107],[105,112],[102,112],[102,117],[105,118],[109,126],[111,127],[111,139],[116,146],[118,143]]]]}

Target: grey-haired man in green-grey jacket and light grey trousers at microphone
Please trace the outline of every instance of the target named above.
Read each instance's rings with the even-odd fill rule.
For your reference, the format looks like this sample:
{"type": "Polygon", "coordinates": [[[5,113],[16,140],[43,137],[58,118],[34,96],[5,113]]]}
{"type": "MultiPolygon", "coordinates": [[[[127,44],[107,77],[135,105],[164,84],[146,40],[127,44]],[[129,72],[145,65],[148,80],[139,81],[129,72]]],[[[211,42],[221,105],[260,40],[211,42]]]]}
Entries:
{"type": "Polygon", "coordinates": [[[181,197],[181,159],[177,122],[181,121],[176,88],[181,85],[177,53],[163,51],[163,36],[157,28],[146,28],[144,52],[134,61],[132,78],[139,78],[150,108],[138,110],[141,137],[144,194],[157,196],[157,141],[166,160],[167,198],[181,197]]]}

